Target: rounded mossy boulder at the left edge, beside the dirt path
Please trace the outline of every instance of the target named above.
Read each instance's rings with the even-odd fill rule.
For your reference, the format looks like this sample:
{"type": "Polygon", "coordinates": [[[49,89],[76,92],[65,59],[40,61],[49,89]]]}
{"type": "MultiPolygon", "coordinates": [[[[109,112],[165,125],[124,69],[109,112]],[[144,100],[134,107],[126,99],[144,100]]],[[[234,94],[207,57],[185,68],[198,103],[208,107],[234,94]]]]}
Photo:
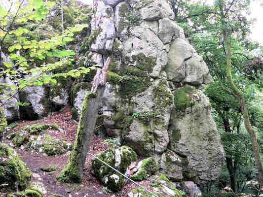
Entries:
{"type": "Polygon", "coordinates": [[[10,147],[0,144],[0,185],[7,184],[6,188],[24,190],[31,181],[31,171],[10,147]]]}

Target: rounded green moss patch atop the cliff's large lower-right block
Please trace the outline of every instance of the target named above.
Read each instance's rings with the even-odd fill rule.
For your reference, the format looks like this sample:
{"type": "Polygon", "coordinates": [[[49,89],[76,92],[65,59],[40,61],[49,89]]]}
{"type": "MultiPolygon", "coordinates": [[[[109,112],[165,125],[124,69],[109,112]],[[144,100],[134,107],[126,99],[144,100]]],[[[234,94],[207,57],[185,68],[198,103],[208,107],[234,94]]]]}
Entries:
{"type": "Polygon", "coordinates": [[[189,97],[196,90],[191,87],[179,88],[174,92],[175,109],[178,111],[185,111],[186,108],[194,105],[194,100],[189,97]]]}

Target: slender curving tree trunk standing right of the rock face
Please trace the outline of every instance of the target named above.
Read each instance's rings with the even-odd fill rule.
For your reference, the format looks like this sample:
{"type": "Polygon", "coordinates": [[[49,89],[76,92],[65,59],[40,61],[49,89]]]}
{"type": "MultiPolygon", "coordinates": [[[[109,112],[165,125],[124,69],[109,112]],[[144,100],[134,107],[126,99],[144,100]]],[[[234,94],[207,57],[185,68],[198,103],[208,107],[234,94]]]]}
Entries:
{"type": "Polygon", "coordinates": [[[250,121],[249,121],[249,115],[248,115],[248,110],[247,110],[247,106],[246,106],[246,102],[245,102],[245,98],[243,93],[235,86],[234,82],[233,82],[233,78],[232,78],[232,72],[231,72],[231,43],[230,43],[230,35],[228,28],[227,28],[227,24],[225,22],[225,14],[224,14],[224,4],[223,4],[223,0],[219,1],[219,7],[220,7],[220,14],[221,14],[221,25],[222,25],[222,34],[223,34],[223,38],[225,41],[225,50],[226,50],[226,78],[228,80],[229,86],[231,88],[231,90],[234,92],[234,94],[236,95],[236,97],[239,99],[240,102],[240,107],[241,107],[241,111],[242,111],[242,115],[244,118],[244,122],[245,122],[245,127],[246,130],[248,131],[251,141],[252,141],[252,147],[253,147],[253,152],[254,152],[254,157],[255,157],[255,163],[256,163],[256,167],[259,173],[259,178],[260,178],[260,183],[261,185],[263,185],[263,166],[262,166],[262,162],[261,162],[261,156],[260,156],[260,150],[259,150],[259,144],[257,141],[257,136],[255,131],[253,130],[250,121]]]}

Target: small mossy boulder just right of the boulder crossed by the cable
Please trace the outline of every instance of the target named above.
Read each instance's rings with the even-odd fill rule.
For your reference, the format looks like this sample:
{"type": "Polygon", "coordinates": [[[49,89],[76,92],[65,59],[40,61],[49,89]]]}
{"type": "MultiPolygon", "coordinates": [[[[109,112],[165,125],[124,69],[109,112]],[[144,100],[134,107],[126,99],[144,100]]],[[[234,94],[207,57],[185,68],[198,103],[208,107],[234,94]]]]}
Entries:
{"type": "Polygon", "coordinates": [[[150,157],[139,162],[138,168],[138,171],[131,176],[131,179],[135,181],[142,181],[157,172],[158,164],[152,157],[150,157]]]}

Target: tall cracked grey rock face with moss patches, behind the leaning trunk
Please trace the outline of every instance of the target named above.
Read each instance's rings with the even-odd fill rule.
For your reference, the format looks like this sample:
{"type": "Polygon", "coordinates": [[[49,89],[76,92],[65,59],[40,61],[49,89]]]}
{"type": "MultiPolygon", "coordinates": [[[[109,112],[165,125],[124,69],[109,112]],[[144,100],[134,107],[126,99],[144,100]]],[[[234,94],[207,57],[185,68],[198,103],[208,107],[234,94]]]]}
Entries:
{"type": "Polygon", "coordinates": [[[171,180],[217,179],[224,151],[202,93],[212,77],[168,2],[97,0],[95,6],[93,61],[112,60],[102,105],[107,133],[154,157],[171,180]]]}

